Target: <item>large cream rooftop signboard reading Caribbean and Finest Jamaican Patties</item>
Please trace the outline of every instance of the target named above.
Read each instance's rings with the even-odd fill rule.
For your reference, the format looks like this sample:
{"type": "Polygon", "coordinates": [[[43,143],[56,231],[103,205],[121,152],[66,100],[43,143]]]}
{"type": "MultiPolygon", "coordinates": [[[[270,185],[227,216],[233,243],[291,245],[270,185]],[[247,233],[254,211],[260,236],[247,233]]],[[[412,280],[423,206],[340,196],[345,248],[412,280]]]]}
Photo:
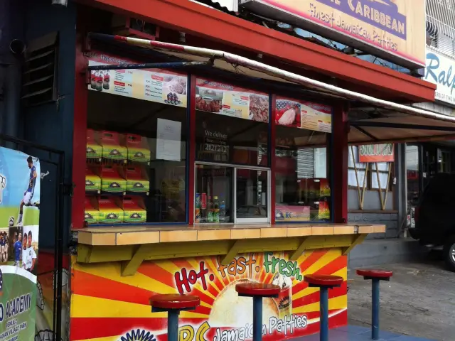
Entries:
{"type": "Polygon", "coordinates": [[[241,0],[240,4],[398,65],[425,65],[424,0],[241,0]]]}

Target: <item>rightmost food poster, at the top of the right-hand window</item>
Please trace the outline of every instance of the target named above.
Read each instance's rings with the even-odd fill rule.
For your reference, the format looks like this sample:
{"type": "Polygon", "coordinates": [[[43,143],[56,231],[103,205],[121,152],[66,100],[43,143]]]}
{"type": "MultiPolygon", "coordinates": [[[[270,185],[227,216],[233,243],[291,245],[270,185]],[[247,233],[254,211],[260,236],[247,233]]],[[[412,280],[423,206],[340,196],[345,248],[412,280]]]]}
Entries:
{"type": "Polygon", "coordinates": [[[281,126],[331,133],[332,109],[327,105],[277,97],[275,123],[281,126]]]}

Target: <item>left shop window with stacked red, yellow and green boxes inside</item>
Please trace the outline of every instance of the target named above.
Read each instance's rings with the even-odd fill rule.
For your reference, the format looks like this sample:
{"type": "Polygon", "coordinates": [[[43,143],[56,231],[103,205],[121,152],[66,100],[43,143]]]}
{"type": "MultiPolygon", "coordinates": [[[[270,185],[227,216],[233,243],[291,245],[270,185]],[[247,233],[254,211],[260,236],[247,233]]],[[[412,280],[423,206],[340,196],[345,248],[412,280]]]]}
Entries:
{"type": "MultiPolygon", "coordinates": [[[[101,54],[90,65],[125,63],[101,54]]],[[[87,103],[88,224],[186,222],[186,75],[92,72],[87,103]]]]}

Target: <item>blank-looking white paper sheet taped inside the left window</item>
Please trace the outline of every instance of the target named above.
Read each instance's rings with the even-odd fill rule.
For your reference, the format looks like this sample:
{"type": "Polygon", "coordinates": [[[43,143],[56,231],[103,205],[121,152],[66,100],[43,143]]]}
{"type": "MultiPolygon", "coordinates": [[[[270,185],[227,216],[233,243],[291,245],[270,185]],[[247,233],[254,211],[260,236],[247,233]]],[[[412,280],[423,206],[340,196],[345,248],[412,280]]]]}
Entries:
{"type": "Polygon", "coordinates": [[[156,129],[157,159],[181,161],[181,131],[181,122],[158,119],[156,129]]]}

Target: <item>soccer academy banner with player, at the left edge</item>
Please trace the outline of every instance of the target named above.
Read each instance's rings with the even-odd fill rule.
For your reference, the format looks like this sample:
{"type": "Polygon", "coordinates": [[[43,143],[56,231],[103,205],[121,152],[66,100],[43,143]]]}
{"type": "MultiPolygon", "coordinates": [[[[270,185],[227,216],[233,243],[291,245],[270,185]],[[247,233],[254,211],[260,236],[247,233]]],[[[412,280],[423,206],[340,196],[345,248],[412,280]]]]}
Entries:
{"type": "Polygon", "coordinates": [[[0,147],[0,341],[33,340],[40,161],[0,147]]]}

